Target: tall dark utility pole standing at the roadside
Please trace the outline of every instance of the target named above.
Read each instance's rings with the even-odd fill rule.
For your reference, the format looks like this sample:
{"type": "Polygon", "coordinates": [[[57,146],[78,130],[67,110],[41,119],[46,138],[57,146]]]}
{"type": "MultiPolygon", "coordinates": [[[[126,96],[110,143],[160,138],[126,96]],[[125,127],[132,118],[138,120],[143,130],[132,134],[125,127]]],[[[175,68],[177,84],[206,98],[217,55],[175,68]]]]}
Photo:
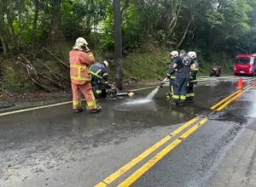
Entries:
{"type": "Polygon", "coordinates": [[[115,84],[120,90],[123,89],[122,75],[122,32],[121,32],[121,3],[113,0],[113,27],[114,27],[114,59],[116,65],[115,84]]]}

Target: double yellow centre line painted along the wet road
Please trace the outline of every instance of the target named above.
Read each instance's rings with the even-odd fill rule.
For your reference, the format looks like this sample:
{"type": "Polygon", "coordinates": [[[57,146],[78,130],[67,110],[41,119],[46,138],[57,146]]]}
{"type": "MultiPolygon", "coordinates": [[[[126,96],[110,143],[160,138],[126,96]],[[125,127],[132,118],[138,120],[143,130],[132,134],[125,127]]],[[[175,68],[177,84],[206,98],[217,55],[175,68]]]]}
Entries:
{"type": "MultiPolygon", "coordinates": [[[[233,100],[235,100],[236,98],[241,96],[241,94],[244,94],[248,89],[253,88],[254,86],[256,86],[256,83],[249,85],[242,90],[236,91],[234,94],[231,94],[225,99],[219,101],[218,104],[213,105],[211,109],[215,111],[223,110],[225,106],[229,105],[233,100]]],[[[146,173],[151,167],[154,166],[154,164],[160,161],[161,158],[166,156],[166,154],[168,154],[171,150],[173,150],[184,139],[187,139],[191,133],[194,133],[199,127],[203,126],[207,121],[208,121],[207,118],[201,119],[200,117],[195,117],[189,122],[186,122],[185,124],[183,124],[183,126],[178,127],[175,131],[168,134],[164,139],[160,139],[159,142],[157,142],[156,144],[148,148],[148,150],[145,150],[142,154],[140,154],[130,162],[126,163],[125,166],[120,167],[116,172],[110,174],[107,178],[103,179],[102,182],[96,184],[95,187],[106,187],[108,186],[108,184],[112,184],[113,181],[115,181],[121,175],[129,171],[132,167],[137,165],[137,163],[139,163],[140,161],[143,161],[143,159],[149,156],[151,153],[153,153],[154,150],[159,149],[160,146],[162,146],[163,144],[166,144],[169,140],[176,137],[177,134],[181,133],[185,128],[189,127],[192,124],[195,124],[196,122],[196,124],[193,127],[190,127],[189,130],[187,130],[177,139],[172,141],[171,144],[166,145],[166,147],[163,150],[160,150],[160,152],[157,155],[155,155],[153,158],[147,161],[142,167],[138,168],[136,172],[132,173],[130,177],[126,178],[122,183],[118,185],[118,187],[130,186],[138,178],[140,178],[143,175],[143,173],[146,173]]]]}

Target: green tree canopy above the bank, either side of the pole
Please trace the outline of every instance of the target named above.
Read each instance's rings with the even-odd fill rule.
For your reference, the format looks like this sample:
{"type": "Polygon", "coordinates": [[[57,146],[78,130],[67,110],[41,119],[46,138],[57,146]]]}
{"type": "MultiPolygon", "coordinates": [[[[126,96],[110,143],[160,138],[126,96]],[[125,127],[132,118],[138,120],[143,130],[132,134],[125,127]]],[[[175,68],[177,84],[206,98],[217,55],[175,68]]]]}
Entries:
{"type": "MultiPolygon", "coordinates": [[[[193,49],[234,56],[256,49],[256,0],[121,0],[123,51],[193,49]]],[[[0,47],[15,54],[83,36],[113,51],[112,0],[1,0],[0,47]]],[[[125,54],[124,53],[124,54],[125,54]]]]}

